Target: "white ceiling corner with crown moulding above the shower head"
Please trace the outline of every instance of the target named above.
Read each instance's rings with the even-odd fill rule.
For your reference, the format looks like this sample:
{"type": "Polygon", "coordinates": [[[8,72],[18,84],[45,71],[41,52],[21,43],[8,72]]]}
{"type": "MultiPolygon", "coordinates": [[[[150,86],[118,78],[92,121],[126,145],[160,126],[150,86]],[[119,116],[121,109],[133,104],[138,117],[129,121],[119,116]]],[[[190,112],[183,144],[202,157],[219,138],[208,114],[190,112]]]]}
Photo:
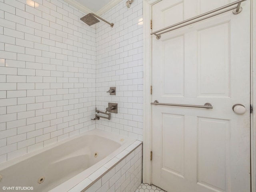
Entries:
{"type": "Polygon", "coordinates": [[[86,13],[103,14],[121,0],[64,0],[86,13]]]}

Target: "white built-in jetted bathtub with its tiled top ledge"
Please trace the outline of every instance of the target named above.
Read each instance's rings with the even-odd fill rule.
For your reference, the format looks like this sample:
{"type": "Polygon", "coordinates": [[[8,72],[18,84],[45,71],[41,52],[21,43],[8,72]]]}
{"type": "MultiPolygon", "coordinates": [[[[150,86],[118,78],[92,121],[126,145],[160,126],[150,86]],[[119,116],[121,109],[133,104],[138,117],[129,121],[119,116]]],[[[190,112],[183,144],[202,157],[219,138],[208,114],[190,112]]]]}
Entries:
{"type": "Polygon", "coordinates": [[[85,191],[141,143],[103,130],[90,130],[0,164],[0,189],[85,191]]]}

